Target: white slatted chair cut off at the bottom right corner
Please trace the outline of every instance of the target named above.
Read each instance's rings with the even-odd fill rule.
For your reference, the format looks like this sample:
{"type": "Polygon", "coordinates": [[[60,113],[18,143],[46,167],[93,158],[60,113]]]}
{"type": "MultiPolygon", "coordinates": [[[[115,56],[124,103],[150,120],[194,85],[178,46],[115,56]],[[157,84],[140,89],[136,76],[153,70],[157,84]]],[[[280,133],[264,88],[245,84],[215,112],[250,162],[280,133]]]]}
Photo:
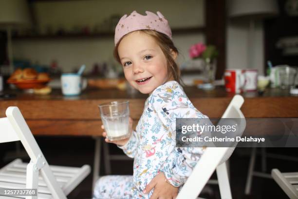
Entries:
{"type": "Polygon", "coordinates": [[[298,172],[280,173],[272,169],[271,176],[290,199],[298,199],[298,172]]]}

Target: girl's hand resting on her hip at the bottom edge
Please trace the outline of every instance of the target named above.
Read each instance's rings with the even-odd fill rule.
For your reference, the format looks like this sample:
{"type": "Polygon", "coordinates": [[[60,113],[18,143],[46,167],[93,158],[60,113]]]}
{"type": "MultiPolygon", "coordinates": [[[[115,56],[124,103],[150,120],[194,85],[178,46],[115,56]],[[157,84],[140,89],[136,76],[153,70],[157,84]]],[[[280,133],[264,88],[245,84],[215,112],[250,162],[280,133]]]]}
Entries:
{"type": "Polygon", "coordinates": [[[143,193],[149,193],[153,188],[154,191],[150,199],[175,199],[179,189],[179,187],[174,187],[166,181],[163,172],[157,174],[149,184],[147,184],[143,193]]]}

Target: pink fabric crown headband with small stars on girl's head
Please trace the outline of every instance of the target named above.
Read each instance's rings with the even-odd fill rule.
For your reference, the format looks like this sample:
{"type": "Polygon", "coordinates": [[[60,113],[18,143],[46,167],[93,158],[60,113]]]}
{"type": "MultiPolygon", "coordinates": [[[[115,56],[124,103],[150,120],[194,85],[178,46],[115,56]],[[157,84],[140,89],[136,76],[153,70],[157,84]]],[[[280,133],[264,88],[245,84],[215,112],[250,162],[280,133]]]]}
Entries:
{"type": "Polygon", "coordinates": [[[172,32],[168,25],[168,20],[157,11],[157,15],[146,11],[147,15],[140,15],[133,11],[130,16],[124,15],[115,28],[115,45],[126,34],[136,30],[155,30],[167,35],[172,39],[172,32]]]}

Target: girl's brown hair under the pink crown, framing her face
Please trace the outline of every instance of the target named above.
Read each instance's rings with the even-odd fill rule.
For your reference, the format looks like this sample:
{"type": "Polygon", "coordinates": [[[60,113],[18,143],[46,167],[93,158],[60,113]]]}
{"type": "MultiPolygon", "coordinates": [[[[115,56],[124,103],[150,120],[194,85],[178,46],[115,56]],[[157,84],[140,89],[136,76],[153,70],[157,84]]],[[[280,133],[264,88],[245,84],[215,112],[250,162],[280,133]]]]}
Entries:
{"type": "MultiPolygon", "coordinates": [[[[168,78],[170,78],[172,76],[175,81],[180,82],[180,69],[171,54],[172,51],[174,51],[177,54],[177,56],[179,54],[178,49],[174,46],[173,41],[170,40],[167,35],[153,31],[153,30],[138,30],[138,31],[153,37],[153,39],[157,42],[157,44],[163,51],[164,55],[166,56],[167,66],[168,66],[168,71],[169,71],[168,78]]],[[[124,37],[126,37],[126,36],[127,35],[125,35],[124,37]]],[[[122,37],[118,41],[118,43],[116,44],[116,46],[114,48],[114,57],[119,63],[121,63],[121,61],[120,61],[119,54],[118,54],[118,46],[119,46],[120,41],[124,37],[122,37]]]]}

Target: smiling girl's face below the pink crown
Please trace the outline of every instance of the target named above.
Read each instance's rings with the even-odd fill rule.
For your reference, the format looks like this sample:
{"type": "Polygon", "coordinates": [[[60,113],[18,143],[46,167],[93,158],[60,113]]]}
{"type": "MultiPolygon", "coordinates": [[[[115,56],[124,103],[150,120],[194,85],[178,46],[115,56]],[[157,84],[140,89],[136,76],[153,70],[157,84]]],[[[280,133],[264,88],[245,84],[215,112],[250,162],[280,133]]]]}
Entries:
{"type": "Polygon", "coordinates": [[[147,34],[134,31],[118,46],[125,78],[141,93],[149,94],[168,78],[167,60],[156,41],[147,34]]]}

